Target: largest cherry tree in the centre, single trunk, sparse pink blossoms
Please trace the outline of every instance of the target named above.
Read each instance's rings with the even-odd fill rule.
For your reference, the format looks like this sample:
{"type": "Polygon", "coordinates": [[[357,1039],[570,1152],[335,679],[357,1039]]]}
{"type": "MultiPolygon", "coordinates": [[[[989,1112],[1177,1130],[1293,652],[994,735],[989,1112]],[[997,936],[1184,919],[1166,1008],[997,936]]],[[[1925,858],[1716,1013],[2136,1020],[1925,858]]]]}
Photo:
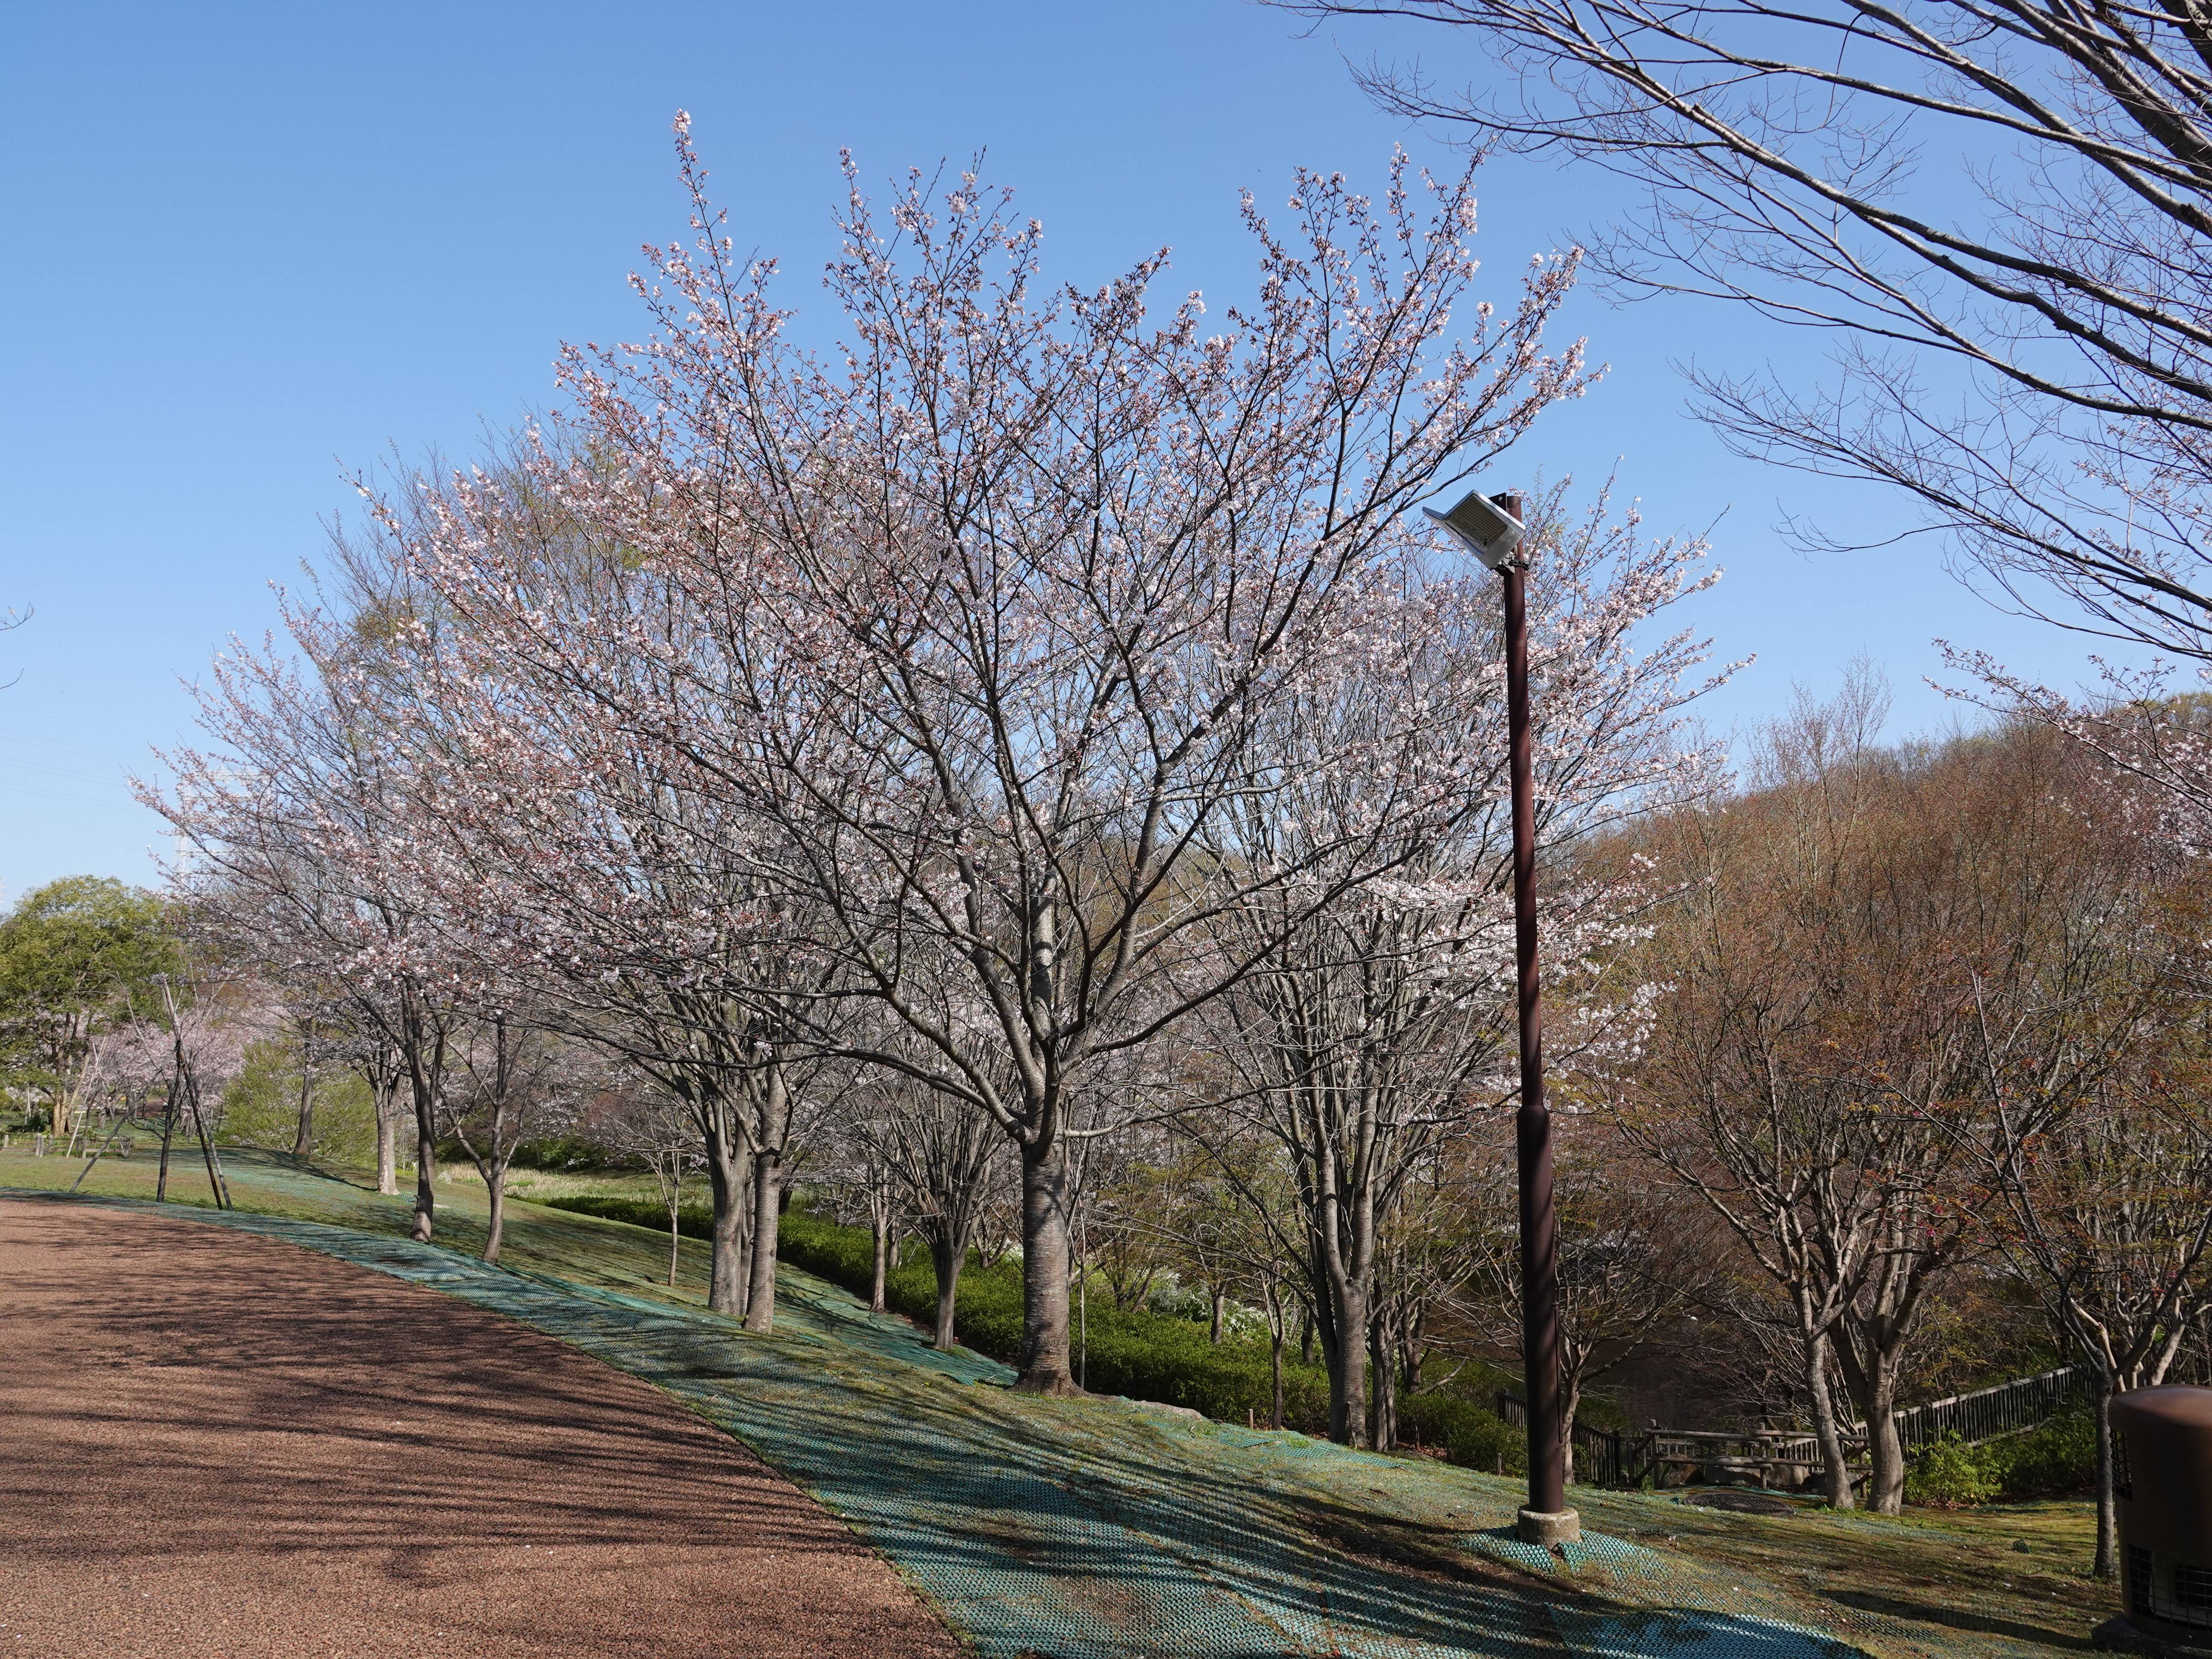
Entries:
{"type": "Polygon", "coordinates": [[[1579,345],[1542,349],[1575,257],[1500,319],[1469,299],[1471,175],[1400,161],[1380,204],[1301,175],[1294,234],[1245,204],[1259,301],[1208,334],[1194,294],[1152,321],[1164,254],[1053,294],[1004,192],[916,177],[885,223],[854,190],[821,363],[688,139],[684,166],[701,234],[641,283],[657,338],[568,361],[619,467],[544,482],[706,619],[710,677],[668,672],[757,728],[670,737],[776,825],[776,880],[916,1040],[869,1057],[1013,1141],[1022,1378],[1066,1391],[1071,1099],[1243,971],[1186,947],[1285,872],[1212,823],[1276,787],[1267,714],[1387,630],[1400,515],[1586,385],[1579,345]],[[964,995],[911,998],[914,962],[964,995]]]}

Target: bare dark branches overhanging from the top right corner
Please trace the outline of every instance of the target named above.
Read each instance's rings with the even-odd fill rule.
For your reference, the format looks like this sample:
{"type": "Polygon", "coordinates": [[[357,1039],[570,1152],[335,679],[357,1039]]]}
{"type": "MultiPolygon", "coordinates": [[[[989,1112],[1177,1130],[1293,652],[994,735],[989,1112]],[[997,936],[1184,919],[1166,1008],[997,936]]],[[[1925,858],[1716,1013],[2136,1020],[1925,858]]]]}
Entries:
{"type": "Polygon", "coordinates": [[[1834,338],[1823,387],[1692,369],[1741,451],[1905,491],[2028,611],[2212,655],[2197,11],[1276,2],[1451,27],[1495,75],[1371,66],[1367,91],[1621,177],[1635,208],[1593,252],[1624,292],[1834,338]]]}

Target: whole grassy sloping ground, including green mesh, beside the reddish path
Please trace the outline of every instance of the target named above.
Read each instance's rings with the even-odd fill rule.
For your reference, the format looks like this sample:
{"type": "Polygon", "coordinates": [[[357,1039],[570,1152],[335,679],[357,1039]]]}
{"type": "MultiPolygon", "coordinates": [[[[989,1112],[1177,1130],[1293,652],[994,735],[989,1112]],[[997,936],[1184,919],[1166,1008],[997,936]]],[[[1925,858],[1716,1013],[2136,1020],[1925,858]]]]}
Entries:
{"type": "MultiPolygon", "coordinates": [[[[234,1225],[502,1307],[670,1389],[845,1515],[982,1655],[2017,1655],[2081,1650],[2115,1606],[2086,1573],[2086,1504],[1880,1520],[1577,1489],[1595,1537],[1544,1557],[1509,1535],[1511,1478],[987,1387],[1000,1367],[936,1360],[796,1267],[783,1329],[752,1338],[703,1312],[690,1239],[670,1290],[666,1234],[518,1201],[513,1272],[482,1270],[476,1183],[440,1183],[425,1250],[403,1243],[407,1197],[358,1175],[246,1150],[228,1166],[234,1225]]],[[[18,1146],[0,1190],[80,1168],[18,1146]]],[[[150,1197],[144,1144],[84,1192],[150,1197]]],[[[197,1157],[177,1157],[170,1194],[208,1208],[197,1157]]]]}

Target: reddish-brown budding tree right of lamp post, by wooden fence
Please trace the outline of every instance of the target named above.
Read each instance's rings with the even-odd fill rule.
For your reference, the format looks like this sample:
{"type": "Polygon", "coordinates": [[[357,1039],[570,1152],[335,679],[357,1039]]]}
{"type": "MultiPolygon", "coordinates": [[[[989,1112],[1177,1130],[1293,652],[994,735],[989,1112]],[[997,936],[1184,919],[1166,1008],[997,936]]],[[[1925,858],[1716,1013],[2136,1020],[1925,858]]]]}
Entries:
{"type": "Polygon", "coordinates": [[[1989,1245],[1986,1031],[2031,1071],[2101,1064],[2081,989],[2126,947],[2130,874],[2068,803],[2062,739],[1885,752],[1880,717],[1865,677],[1803,701],[1759,790],[1650,843],[1681,900],[1646,973],[1672,989],[1646,1060],[1597,1088],[1792,1307],[1829,1500],[1851,1502],[1840,1374],[1896,1513],[1911,1336],[1989,1245]]]}

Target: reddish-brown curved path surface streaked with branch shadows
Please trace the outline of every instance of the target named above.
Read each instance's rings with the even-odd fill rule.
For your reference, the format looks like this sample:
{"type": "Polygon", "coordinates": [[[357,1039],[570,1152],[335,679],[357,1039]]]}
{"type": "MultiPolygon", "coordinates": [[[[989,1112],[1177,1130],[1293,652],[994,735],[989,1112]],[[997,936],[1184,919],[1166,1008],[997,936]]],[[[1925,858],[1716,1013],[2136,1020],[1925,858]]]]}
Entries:
{"type": "Polygon", "coordinates": [[[0,1201],[7,1655],[951,1659],[743,1447],[283,1243],[0,1201]]]}

